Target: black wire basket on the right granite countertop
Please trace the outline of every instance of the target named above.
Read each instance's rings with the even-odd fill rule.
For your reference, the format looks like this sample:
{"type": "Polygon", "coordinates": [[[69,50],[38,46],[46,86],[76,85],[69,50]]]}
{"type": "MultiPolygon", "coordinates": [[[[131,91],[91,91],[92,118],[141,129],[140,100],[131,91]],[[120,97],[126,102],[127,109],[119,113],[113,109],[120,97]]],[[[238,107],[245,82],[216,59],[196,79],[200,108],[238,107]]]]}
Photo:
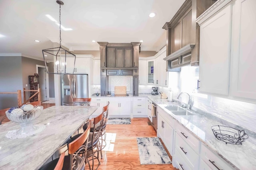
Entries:
{"type": "Polygon", "coordinates": [[[228,126],[212,126],[212,131],[218,140],[223,141],[226,144],[242,145],[242,142],[244,142],[245,139],[248,139],[248,135],[244,130],[240,131],[228,126]]]}

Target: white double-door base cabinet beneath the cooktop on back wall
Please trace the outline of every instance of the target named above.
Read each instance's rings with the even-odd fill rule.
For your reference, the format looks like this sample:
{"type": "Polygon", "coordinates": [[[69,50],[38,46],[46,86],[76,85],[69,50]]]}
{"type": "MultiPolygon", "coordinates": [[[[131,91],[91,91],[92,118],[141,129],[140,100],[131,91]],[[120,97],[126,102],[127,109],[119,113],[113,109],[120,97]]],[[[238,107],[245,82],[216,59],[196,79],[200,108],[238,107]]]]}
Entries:
{"type": "Polygon", "coordinates": [[[108,116],[109,117],[131,117],[131,98],[113,97],[108,98],[108,116]]]}

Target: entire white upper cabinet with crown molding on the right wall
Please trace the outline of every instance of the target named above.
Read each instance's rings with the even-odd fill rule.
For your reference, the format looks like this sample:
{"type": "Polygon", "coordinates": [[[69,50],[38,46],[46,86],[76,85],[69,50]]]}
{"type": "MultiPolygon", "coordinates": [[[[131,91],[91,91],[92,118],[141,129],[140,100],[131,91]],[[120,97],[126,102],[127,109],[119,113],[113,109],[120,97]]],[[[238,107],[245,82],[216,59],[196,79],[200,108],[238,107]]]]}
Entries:
{"type": "Polygon", "coordinates": [[[255,0],[223,0],[196,19],[200,25],[199,92],[256,102],[255,0]]]}

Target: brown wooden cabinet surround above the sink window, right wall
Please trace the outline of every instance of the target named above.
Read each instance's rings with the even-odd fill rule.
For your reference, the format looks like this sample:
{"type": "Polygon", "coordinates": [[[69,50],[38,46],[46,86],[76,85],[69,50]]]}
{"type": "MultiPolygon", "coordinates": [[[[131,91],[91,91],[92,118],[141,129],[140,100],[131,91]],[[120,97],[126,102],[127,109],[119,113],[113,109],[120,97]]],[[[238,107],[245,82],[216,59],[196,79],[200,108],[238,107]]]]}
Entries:
{"type": "Polygon", "coordinates": [[[186,0],[170,22],[162,27],[167,31],[166,66],[170,71],[185,65],[199,65],[200,28],[196,18],[216,0],[186,0]]]}

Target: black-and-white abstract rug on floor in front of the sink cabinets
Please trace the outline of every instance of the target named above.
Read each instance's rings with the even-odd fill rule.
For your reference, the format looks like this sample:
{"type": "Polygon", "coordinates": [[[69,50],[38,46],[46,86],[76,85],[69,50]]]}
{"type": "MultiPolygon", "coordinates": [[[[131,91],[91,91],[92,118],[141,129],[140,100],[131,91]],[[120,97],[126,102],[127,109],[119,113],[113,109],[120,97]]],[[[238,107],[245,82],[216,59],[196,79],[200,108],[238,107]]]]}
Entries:
{"type": "Polygon", "coordinates": [[[140,164],[171,164],[168,154],[158,137],[137,137],[140,164]]]}

